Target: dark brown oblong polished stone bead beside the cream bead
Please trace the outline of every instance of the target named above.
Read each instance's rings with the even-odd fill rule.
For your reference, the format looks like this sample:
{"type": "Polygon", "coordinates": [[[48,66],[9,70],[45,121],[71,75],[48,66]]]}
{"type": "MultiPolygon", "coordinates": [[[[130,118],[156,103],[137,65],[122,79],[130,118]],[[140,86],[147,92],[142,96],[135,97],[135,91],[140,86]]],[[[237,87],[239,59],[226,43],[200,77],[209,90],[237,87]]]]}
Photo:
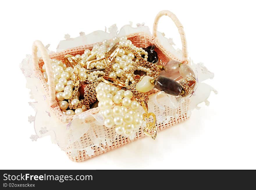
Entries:
{"type": "Polygon", "coordinates": [[[173,96],[180,95],[182,91],[182,86],[175,80],[161,76],[157,77],[155,88],[173,96]]]}

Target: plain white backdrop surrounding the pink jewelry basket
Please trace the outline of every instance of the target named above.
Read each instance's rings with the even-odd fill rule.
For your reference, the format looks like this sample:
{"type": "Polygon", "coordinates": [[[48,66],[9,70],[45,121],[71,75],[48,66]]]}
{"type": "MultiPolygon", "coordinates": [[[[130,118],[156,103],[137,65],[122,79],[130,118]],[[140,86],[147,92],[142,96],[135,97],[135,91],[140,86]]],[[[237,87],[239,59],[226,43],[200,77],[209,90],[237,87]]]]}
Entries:
{"type": "MultiPolygon", "coordinates": [[[[256,169],[255,5],[250,1],[4,1],[1,4],[0,169],[256,169]],[[215,73],[218,95],[186,122],[96,156],[72,162],[48,137],[32,142],[33,115],[19,64],[38,39],[55,50],[64,34],[77,37],[116,23],[152,31],[160,10],[184,26],[189,56],[215,73]],[[72,26],[71,26],[72,24],[72,26]]],[[[159,31],[181,47],[168,17],[159,31]]]]}

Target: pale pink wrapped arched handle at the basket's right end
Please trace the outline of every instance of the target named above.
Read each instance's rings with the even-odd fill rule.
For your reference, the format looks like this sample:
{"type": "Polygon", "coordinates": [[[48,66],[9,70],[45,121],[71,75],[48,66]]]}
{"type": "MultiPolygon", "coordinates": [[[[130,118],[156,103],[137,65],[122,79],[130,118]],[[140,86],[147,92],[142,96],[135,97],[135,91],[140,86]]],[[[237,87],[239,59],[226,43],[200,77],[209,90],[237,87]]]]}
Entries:
{"type": "Polygon", "coordinates": [[[163,15],[170,17],[179,30],[179,35],[180,35],[181,43],[182,43],[182,59],[184,61],[186,61],[188,59],[188,52],[187,52],[187,41],[186,41],[185,32],[183,30],[183,26],[180,23],[179,19],[172,12],[170,12],[168,10],[162,10],[157,14],[154,24],[153,24],[153,39],[157,38],[158,21],[163,15]]]}

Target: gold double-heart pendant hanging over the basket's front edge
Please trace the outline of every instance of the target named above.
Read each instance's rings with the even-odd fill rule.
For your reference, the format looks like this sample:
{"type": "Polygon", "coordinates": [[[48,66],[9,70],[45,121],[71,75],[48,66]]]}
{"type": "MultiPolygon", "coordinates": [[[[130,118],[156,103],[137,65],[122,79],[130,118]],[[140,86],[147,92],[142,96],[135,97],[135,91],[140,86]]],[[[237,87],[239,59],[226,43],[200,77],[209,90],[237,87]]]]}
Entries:
{"type": "Polygon", "coordinates": [[[147,104],[145,104],[144,101],[141,102],[141,105],[143,109],[145,110],[146,113],[143,113],[143,120],[147,122],[147,119],[150,118],[150,116],[153,117],[153,122],[147,122],[146,127],[143,129],[145,135],[150,136],[152,139],[155,139],[157,137],[157,127],[156,127],[156,122],[157,118],[156,115],[152,112],[148,113],[148,107],[147,104]],[[154,134],[150,134],[150,131],[154,131],[154,134]]]}

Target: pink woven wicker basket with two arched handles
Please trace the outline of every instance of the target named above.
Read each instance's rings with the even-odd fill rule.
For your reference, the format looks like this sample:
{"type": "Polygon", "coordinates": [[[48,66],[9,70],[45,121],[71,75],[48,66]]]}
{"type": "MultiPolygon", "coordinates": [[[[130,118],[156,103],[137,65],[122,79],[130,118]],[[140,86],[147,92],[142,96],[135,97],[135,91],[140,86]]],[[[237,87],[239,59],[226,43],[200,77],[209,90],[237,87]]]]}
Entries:
{"type": "MultiPolygon", "coordinates": [[[[149,45],[154,44],[155,45],[155,51],[158,54],[159,59],[162,60],[162,62],[167,63],[169,60],[178,60],[178,61],[184,61],[187,60],[187,46],[186,46],[186,37],[184,34],[184,30],[183,30],[183,26],[182,24],[179,22],[179,20],[177,19],[177,17],[170,11],[164,10],[158,13],[158,15],[155,18],[154,21],[154,25],[153,25],[153,36],[150,36],[146,33],[140,32],[140,33],[134,33],[131,35],[128,35],[127,38],[129,40],[132,41],[132,43],[137,46],[137,47],[147,47],[149,45]],[[163,15],[169,16],[174,23],[176,24],[181,40],[182,40],[182,53],[183,53],[183,57],[182,60],[178,59],[177,57],[175,57],[174,55],[172,55],[170,52],[168,52],[167,50],[165,50],[163,48],[163,46],[161,46],[161,44],[159,44],[159,41],[157,39],[157,24],[159,21],[159,18],[162,17],[163,15]]],[[[48,96],[49,102],[50,102],[50,106],[51,106],[51,110],[56,114],[57,118],[59,119],[59,122],[64,122],[64,123],[68,123],[69,121],[71,121],[74,117],[73,116],[67,116],[67,115],[63,115],[61,113],[60,107],[57,104],[57,101],[55,99],[55,85],[54,85],[54,74],[53,71],[51,70],[51,61],[49,58],[51,59],[58,59],[58,60],[62,60],[66,54],[70,54],[70,55],[77,55],[77,54],[83,54],[85,49],[92,49],[93,48],[93,44],[90,45],[84,45],[84,46],[79,46],[79,47],[75,47],[75,48],[71,48],[71,49],[67,49],[61,52],[57,52],[51,55],[47,54],[47,51],[45,49],[45,47],[43,46],[43,44],[40,41],[35,41],[33,43],[33,48],[32,48],[32,58],[33,58],[33,70],[35,72],[35,75],[40,79],[40,81],[42,82],[42,87],[45,89],[46,94],[48,96]],[[37,56],[37,51],[38,49],[40,50],[42,57],[39,59],[37,56]],[[42,68],[42,65],[45,64],[46,67],[46,73],[48,76],[48,84],[45,81],[42,72],[40,70],[40,68],[42,68]]],[[[157,93],[158,90],[157,89],[153,89],[150,92],[148,92],[148,94],[154,94],[157,93]]],[[[182,103],[180,103],[180,105],[178,106],[177,110],[170,110],[170,108],[166,108],[165,114],[168,114],[168,112],[172,112],[172,113],[176,113],[177,117],[172,117],[170,119],[170,121],[168,123],[159,123],[157,122],[157,127],[158,130],[162,130],[165,129],[169,126],[173,126],[174,124],[177,124],[179,122],[182,122],[184,120],[186,120],[188,118],[188,115],[186,114],[188,111],[188,106],[189,106],[189,102],[190,99],[189,98],[183,98],[182,103]],[[183,113],[181,113],[181,108],[183,110],[183,113]],[[173,112],[174,111],[174,112],[173,112]],[[185,114],[184,114],[185,113],[185,114]]],[[[157,111],[157,108],[155,108],[155,110],[157,111]]],[[[90,109],[86,112],[93,114],[98,113],[98,108],[93,108],[90,109]]],[[[94,120],[94,117],[88,117],[86,118],[86,122],[90,123],[94,120]]],[[[102,127],[104,128],[106,133],[115,133],[115,129],[114,127],[112,128],[106,128],[105,126],[97,126],[97,127],[102,127]]],[[[143,129],[140,129],[138,131],[138,133],[136,133],[136,137],[134,138],[134,140],[144,137],[145,134],[143,133],[143,129]]],[[[94,154],[93,156],[89,156],[86,154],[85,150],[81,150],[81,144],[86,144],[88,143],[88,141],[90,140],[90,137],[88,136],[87,133],[85,133],[83,136],[81,136],[81,138],[79,140],[77,140],[76,142],[73,142],[72,144],[69,145],[69,147],[66,148],[66,153],[69,156],[69,158],[73,161],[76,162],[80,162],[83,160],[86,160],[88,158],[91,158],[93,156],[102,154],[106,151],[109,151],[111,149],[115,149],[119,146],[122,146],[124,144],[127,144],[129,142],[131,142],[131,140],[129,138],[123,137],[121,135],[119,135],[113,142],[112,145],[103,145],[102,144],[102,148],[101,147],[93,147],[94,150],[94,154]],[[77,155],[71,154],[70,150],[72,149],[76,149],[76,147],[79,145],[79,149],[80,151],[78,151],[77,155]]]]}

